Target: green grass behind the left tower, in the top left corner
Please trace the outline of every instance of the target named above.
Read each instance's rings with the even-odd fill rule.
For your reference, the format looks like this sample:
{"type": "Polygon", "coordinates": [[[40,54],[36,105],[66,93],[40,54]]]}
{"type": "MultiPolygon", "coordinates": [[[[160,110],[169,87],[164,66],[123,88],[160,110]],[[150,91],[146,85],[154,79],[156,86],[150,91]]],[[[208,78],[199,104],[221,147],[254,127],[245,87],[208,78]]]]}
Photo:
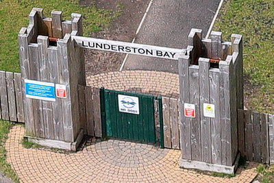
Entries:
{"type": "Polygon", "coordinates": [[[70,20],[71,13],[82,14],[84,36],[99,32],[121,14],[119,10],[97,10],[95,6],[83,7],[78,3],[76,0],[0,0],[0,70],[20,72],[17,34],[21,27],[27,27],[29,12],[34,7],[43,8],[47,17],[51,10],[60,10],[64,20],[70,20]]]}

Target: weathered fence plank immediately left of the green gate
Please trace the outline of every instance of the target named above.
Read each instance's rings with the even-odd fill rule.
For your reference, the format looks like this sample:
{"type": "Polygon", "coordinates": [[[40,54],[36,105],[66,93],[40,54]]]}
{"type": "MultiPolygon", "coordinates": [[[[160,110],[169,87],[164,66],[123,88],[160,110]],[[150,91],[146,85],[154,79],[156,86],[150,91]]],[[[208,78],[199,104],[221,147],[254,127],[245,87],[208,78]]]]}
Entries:
{"type": "Polygon", "coordinates": [[[101,123],[101,104],[100,104],[100,89],[93,88],[92,91],[93,115],[95,123],[95,136],[102,137],[102,123],[101,123]]]}

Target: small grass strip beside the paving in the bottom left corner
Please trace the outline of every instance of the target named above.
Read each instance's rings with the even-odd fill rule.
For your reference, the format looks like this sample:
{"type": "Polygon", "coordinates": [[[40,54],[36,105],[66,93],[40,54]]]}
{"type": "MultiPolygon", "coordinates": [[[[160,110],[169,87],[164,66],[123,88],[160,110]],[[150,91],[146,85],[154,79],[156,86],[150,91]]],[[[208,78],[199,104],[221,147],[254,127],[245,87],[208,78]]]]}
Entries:
{"type": "Polygon", "coordinates": [[[5,173],[14,182],[19,182],[15,172],[11,169],[10,164],[5,161],[5,141],[8,138],[8,132],[13,123],[10,121],[3,121],[0,119],[0,170],[5,173]]]}

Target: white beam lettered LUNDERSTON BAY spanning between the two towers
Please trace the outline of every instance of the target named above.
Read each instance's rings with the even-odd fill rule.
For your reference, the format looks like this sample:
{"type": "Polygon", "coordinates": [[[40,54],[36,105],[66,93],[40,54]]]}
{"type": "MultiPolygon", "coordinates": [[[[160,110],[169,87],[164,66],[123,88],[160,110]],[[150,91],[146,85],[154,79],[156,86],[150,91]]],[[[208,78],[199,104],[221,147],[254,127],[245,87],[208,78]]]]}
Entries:
{"type": "Polygon", "coordinates": [[[177,60],[179,58],[179,54],[185,53],[186,51],[185,49],[173,49],[151,45],[140,45],[131,42],[86,38],[82,36],[72,36],[72,38],[77,42],[77,45],[86,49],[114,51],[119,53],[128,53],[140,56],[166,58],[171,60],[177,60]]]}

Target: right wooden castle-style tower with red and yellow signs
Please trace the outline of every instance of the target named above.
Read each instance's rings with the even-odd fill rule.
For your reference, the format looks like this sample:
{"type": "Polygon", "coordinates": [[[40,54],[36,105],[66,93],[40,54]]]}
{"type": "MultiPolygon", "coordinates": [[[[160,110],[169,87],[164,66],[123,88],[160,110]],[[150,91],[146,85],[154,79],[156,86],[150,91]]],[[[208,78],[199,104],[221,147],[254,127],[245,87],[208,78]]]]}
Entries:
{"type": "Polygon", "coordinates": [[[221,32],[202,39],[192,29],[188,56],[179,58],[180,167],[234,173],[238,166],[237,112],[243,109],[242,36],[221,32]]]}

